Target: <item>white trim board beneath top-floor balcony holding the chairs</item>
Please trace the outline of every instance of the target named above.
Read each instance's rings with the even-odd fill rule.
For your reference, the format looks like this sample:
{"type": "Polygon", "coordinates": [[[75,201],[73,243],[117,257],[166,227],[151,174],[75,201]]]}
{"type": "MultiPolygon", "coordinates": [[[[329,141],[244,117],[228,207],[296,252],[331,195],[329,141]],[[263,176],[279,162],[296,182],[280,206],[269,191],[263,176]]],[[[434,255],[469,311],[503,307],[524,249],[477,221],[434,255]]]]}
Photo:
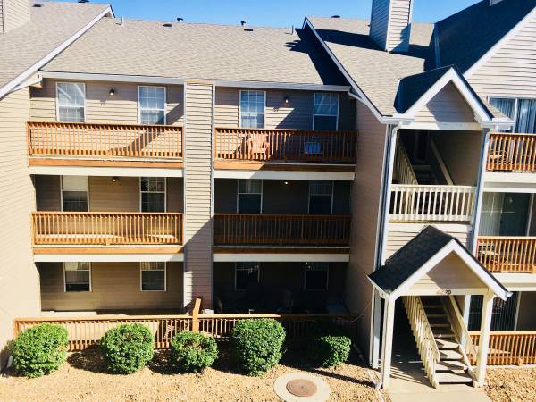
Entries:
{"type": "Polygon", "coordinates": [[[214,179],[354,181],[354,172],[239,171],[214,169],[214,179]]]}

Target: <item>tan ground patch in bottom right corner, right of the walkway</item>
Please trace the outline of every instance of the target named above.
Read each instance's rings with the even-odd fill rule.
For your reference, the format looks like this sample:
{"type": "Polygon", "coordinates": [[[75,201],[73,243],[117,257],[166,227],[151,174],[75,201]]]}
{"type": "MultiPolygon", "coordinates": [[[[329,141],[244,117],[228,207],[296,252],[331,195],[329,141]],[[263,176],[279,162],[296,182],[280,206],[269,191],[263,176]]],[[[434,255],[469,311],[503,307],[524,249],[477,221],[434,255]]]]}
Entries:
{"type": "Polygon", "coordinates": [[[493,402],[536,401],[536,368],[491,368],[484,390],[493,402]]]}

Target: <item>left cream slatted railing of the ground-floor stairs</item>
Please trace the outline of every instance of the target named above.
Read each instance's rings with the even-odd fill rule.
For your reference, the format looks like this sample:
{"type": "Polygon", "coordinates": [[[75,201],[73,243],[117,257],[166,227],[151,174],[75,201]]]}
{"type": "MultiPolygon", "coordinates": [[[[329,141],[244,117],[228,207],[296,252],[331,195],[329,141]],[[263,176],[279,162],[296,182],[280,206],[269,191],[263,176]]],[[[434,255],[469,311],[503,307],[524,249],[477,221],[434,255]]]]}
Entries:
{"type": "Polygon", "coordinates": [[[430,322],[424,311],[421,297],[404,296],[402,297],[404,307],[406,308],[407,318],[413,331],[419,354],[423,360],[424,371],[426,377],[430,380],[434,388],[439,386],[436,378],[436,365],[440,361],[440,349],[436,344],[431,331],[430,322]]]}

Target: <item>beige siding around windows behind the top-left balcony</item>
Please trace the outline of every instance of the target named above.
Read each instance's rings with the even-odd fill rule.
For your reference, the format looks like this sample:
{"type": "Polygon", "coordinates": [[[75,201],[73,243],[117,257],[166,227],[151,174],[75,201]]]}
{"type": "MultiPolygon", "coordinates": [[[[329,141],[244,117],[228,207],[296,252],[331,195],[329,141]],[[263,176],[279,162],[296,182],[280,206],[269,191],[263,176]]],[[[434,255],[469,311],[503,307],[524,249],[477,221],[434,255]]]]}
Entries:
{"type": "MultiPolygon", "coordinates": [[[[43,80],[43,88],[31,89],[32,121],[57,121],[56,82],[43,80]]],[[[138,124],[138,84],[99,81],[85,84],[86,122],[138,124]],[[109,95],[110,88],[115,89],[115,96],[109,95]]],[[[167,124],[182,125],[183,93],[182,86],[166,87],[167,124]]]]}

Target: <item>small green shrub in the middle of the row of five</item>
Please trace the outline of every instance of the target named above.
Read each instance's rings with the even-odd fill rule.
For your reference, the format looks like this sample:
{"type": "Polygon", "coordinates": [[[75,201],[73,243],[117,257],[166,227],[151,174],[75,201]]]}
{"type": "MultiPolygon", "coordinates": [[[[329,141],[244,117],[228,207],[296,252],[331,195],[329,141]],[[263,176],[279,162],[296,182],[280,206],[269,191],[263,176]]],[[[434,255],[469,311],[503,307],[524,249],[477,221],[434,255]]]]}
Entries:
{"type": "Polygon", "coordinates": [[[187,331],[172,339],[172,364],[181,372],[202,372],[217,358],[218,345],[209,335],[187,331]]]}

